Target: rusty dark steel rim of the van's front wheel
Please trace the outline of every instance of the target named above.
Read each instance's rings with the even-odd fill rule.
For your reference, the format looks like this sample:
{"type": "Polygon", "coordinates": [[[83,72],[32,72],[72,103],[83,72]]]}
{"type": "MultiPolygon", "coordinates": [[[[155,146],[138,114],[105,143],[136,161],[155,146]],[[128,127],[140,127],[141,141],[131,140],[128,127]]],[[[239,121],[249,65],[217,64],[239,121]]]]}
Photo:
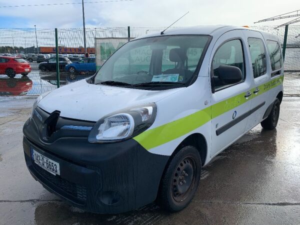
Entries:
{"type": "Polygon", "coordinates": [[[193,189],[196,172],[196,163],[191,156],[183,158],[176,166],[171,188],[171,194],[175,201],[180,202],[187,198],[193,189]]]}

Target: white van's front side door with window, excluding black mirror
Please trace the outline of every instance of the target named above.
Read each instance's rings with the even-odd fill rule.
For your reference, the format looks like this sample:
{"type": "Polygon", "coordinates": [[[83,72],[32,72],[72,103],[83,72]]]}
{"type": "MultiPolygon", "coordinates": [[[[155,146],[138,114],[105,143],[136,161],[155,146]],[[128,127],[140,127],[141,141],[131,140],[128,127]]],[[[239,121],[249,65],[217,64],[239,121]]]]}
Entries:
{"type": "Polygon", "coordinates": [[[214,156],[244,133],[251,99],[252,75],[245,54],[247,43],[241,30],[221,35],[210,56],[212,138],[210,156],[214,156]],[[242,79],[226,85],[218,79],[220,65],[236,66],[242,79]]]}

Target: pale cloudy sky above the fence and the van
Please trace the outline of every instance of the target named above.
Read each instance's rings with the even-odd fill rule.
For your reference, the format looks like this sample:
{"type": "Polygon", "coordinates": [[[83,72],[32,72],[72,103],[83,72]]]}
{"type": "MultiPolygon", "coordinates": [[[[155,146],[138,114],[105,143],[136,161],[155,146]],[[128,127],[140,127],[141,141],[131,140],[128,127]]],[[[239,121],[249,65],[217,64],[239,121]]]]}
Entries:
{"type": "MultiPolygon", "coordinates": [[[[80,0],[0,0],[0,6],[63,2],[80,0]]],[[[259,19],[300,9],[300,0],[133,0],[86,3],[84,8],[87,27],[167,26],[187,11],[189,13],[175,25],[253,25],[259,19]]],[[[38,28],[82,27],[81,10],[80,4],[0,7],[0,27],[23,28],[34,24],[38,28]]],[[[286,21],[259,25],[277,25],[286,21]]]]}

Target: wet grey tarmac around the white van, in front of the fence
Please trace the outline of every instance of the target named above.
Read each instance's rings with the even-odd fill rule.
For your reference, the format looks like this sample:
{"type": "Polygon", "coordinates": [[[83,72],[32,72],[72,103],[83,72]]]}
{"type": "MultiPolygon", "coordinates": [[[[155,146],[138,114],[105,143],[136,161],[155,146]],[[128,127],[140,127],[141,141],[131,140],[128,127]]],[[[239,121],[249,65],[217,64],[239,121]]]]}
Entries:
{"type": "MultiPolygon", "coordinates": [[[[32,103],[32,102],[28,102],[32,103]]],[[[22,125],[31,108],[0,108],[0,224],[300,224],[300,98],[284,97],[277,128],[254,127],[203,168],[192,202],[115,215],[86,213],[29,174],[22,125]]]]}

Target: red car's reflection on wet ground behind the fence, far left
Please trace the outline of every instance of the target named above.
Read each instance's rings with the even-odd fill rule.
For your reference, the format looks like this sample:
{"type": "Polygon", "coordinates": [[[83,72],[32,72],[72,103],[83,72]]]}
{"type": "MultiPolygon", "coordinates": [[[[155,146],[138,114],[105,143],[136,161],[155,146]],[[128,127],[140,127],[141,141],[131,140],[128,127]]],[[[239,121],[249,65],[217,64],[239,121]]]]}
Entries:
{"type": "Polygon", "coordinates": [[[32,89],[32,80],[26,76],[21,78],[0,77],[0,95],[24,95],[32,89]]]}

